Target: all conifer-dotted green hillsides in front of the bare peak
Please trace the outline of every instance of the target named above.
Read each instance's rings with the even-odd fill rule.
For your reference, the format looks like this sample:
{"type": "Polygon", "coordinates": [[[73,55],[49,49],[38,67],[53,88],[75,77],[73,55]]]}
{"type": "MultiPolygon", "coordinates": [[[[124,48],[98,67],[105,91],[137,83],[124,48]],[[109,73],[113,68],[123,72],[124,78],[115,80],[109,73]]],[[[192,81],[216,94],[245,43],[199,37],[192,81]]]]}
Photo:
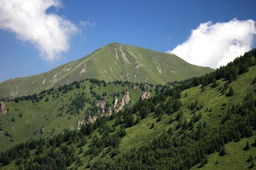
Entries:
{"type": "Polygon", "coordinates": [[[254,49],[179,84],[91,79],[5,102],[1,169],[255,168],[255,56],[254,49]],[[118,113],[96,107],[106,101],[113,108],[114,96],[125,101],[127,91],[130,102],[118,113]],[[142,92],[151,98],[139,100],[142,92]],[[89,115],[96,121],[77,130],[89,115]]]}

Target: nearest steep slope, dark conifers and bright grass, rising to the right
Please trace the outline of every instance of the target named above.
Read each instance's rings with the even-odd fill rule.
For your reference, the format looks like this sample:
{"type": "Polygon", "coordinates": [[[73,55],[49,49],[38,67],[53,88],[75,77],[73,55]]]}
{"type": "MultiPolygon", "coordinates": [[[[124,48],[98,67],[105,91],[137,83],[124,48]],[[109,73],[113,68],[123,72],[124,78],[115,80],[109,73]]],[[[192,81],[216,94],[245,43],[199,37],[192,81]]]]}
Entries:
{"type": "MultiPolygon", "coordinates": [[[[225,144],[252,137],[256,130],[255,57],[253,49],[204,76],[158,85],[155,96],[137,100],[111,116],[99,116],[80,130],[65,129],[46,140],[20,143],[1,153],[2,167],[179,170],[207,166],[209,154],[220,151],[220,156],[224,156],[225,144]],[[209,103],[213,98],[218,100],[209,103]]],[[[104,80],[90,81],[109,85],[104,80]]],[[[72,90],[73,85],[83,88],[79,82],[73,82],[58,90],[64,93],[72,90]]],[[[140,86],[143,89],[144,84],[140,86]]],[[[51,90],[54,89],[14,101],[37,101],[51,90]]],[[[101,96],[92,95],[101,100],[101,96]]],[[[78,108],[74,112],[86,102],[79,96],[73,99],[74,108],[78,108]]],[[[95,106],[94,102],[88,103],[95,106]]],[[[249,149],[246,145],[244,150],[249,149]]]]}

